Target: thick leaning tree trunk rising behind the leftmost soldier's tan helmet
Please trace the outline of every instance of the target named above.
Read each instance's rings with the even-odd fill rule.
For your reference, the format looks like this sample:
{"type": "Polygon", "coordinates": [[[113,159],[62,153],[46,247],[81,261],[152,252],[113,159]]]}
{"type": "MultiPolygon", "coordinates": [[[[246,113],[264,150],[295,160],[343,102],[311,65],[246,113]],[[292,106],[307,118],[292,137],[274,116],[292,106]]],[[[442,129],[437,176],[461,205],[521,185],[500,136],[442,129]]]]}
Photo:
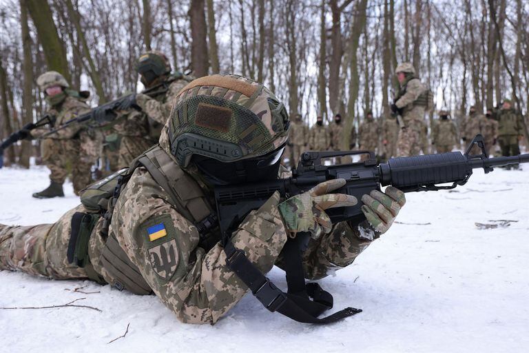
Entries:
{"type": "Polygon", "coordinates": [[[37,36],[41,43],[48,70],[60,72],[66,81],[71,82],[68,60],[64,43],[53,21],[52,10],[48,1],[27,0],[28,12],[37,28],[37,36]]]}

